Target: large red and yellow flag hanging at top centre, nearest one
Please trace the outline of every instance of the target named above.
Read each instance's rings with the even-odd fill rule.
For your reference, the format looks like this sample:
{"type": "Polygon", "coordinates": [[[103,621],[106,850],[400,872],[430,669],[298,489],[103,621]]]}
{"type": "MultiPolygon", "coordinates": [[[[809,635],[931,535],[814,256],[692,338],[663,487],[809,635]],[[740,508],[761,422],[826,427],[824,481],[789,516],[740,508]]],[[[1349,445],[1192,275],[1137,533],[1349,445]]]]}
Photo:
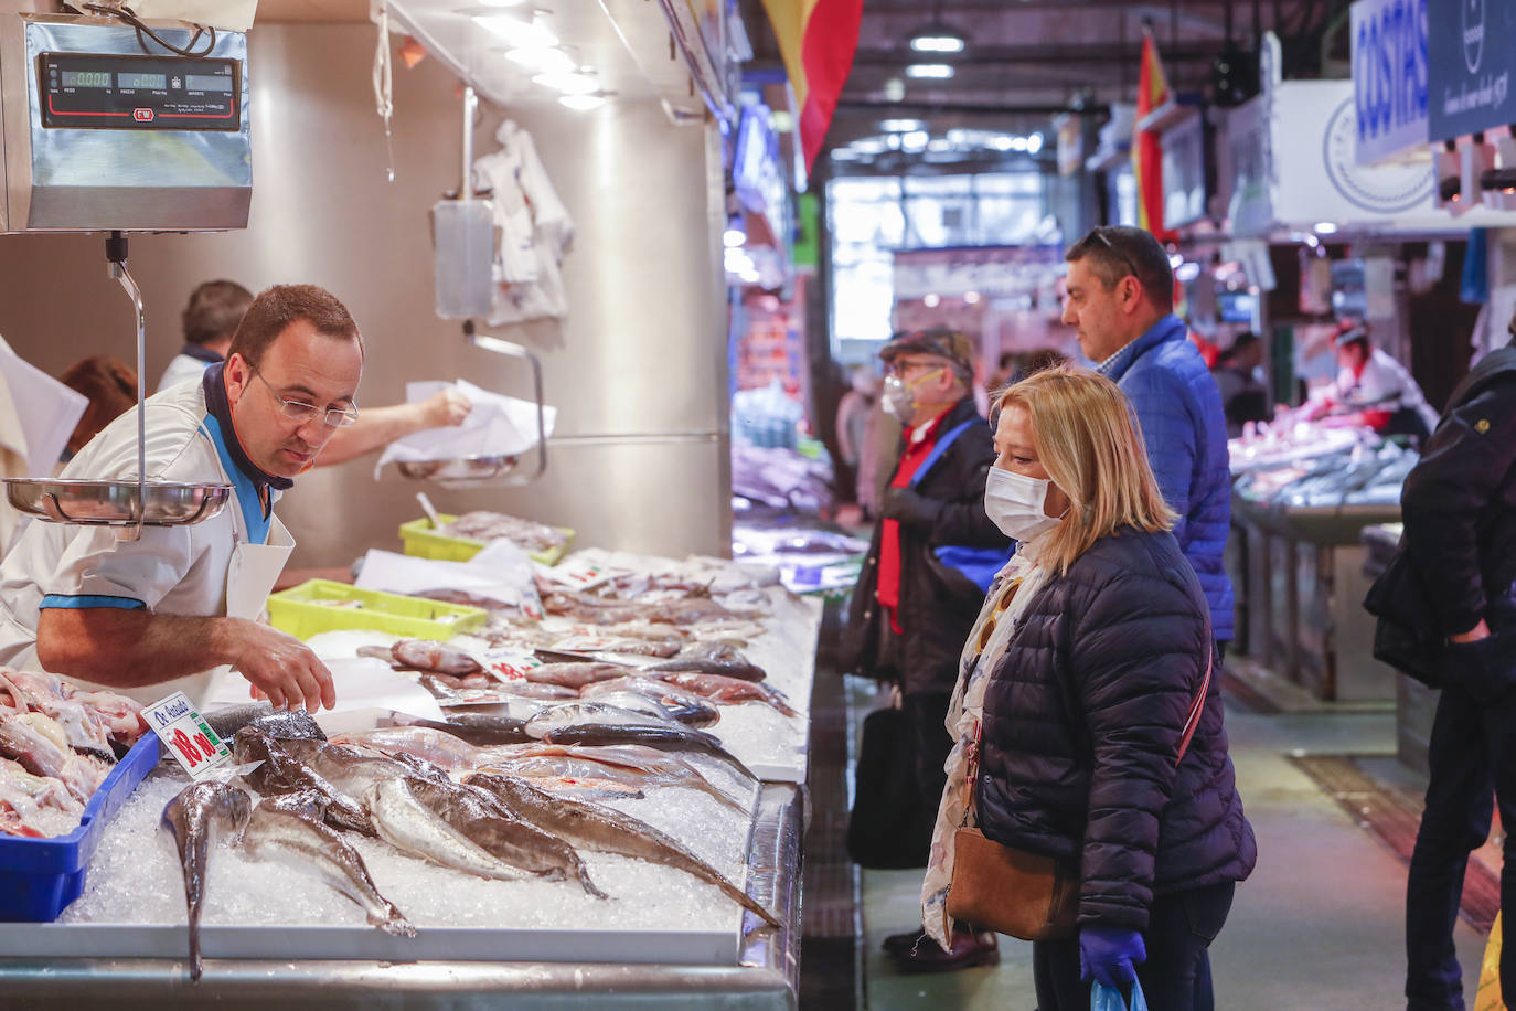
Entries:
{"type": "Polygon", "coordinates": [[[800,150],[810,174],[852,73],[863,0],[763,0],[800,109],[800,150]]]}

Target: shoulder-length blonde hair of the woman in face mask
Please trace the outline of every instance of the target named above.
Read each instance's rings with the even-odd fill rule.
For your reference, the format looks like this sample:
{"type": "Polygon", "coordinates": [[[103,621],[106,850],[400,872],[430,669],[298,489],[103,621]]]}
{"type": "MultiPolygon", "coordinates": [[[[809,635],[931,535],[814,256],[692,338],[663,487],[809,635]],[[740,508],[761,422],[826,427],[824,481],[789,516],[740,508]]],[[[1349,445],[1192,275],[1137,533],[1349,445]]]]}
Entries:
{"type": "Polygon", "coordinates": [[[1054,365],[1007,387],[994,409],[1004,415],[1010,408],[1026,411],[1037,459],[1069,496],[1069,512],[1051,535],[1049,564],[1060,574],[1123,526],[1151,534],[1179,518],[1158,491],[1131,405],[1110,379],[1054,365]]]}

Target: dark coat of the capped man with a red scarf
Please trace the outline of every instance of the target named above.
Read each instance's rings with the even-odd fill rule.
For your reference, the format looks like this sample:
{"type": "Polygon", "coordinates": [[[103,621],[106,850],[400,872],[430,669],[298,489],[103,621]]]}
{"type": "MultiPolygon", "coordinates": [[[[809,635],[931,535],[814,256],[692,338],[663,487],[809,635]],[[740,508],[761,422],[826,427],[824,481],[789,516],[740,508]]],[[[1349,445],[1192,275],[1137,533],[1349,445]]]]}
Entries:
{"type": "MultiPolygon", "coordinates": [[[[960,400],[943,418],[938,435],[978,417],[972,397],[960,400]]],[[[958,678],[958,656],[979,615],[984,594],[932,555],[941,544],[1010,547],[1010,538],[984,514],[984,479],[994,462],[988,421],[970,424],[916,484],[916,493],[944,505],[928,534],[901,524],[901,635],[875,597],[879,573],[881,520],[869,544],[869,558],[854,590],[843,640],[843,670],[899,681],[908,694],[951,693],[958,678]]]]}

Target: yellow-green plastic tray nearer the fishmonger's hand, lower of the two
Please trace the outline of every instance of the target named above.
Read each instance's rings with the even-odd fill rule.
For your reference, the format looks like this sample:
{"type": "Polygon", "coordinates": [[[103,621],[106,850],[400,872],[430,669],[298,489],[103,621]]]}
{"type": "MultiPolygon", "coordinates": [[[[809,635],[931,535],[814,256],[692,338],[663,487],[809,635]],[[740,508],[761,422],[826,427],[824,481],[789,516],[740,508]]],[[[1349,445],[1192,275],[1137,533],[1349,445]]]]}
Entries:
{"type": "Polygon", "coordinates": [[[478,629],[488,618],[481,608],[359,590],[330,579],[309,579],[268,597],[268,621],[280,632],[303,640],[337,629],[444,640],[455,632],[478,629]],[[341,603],[349,606],[335,606],[341,603]]]}

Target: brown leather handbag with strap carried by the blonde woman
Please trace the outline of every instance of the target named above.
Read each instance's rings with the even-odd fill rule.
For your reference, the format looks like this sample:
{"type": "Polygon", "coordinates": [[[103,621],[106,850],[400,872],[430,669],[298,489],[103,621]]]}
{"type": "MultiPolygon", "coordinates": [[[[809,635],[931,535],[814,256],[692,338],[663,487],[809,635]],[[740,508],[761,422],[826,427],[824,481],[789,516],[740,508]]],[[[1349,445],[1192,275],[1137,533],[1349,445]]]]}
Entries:
{"type": "MultiPolygon", "coordinates": [[[[1199,725],[1211,665],[1205,665],[1201,690],[1186,715],[1175,765],[1199,725]]],[[[1023,941],[1072,937],[1079,917],[1079,873],[1051,856],[1004,846],[964,826],[954,834],[948,916],[1023,941]]]]}

